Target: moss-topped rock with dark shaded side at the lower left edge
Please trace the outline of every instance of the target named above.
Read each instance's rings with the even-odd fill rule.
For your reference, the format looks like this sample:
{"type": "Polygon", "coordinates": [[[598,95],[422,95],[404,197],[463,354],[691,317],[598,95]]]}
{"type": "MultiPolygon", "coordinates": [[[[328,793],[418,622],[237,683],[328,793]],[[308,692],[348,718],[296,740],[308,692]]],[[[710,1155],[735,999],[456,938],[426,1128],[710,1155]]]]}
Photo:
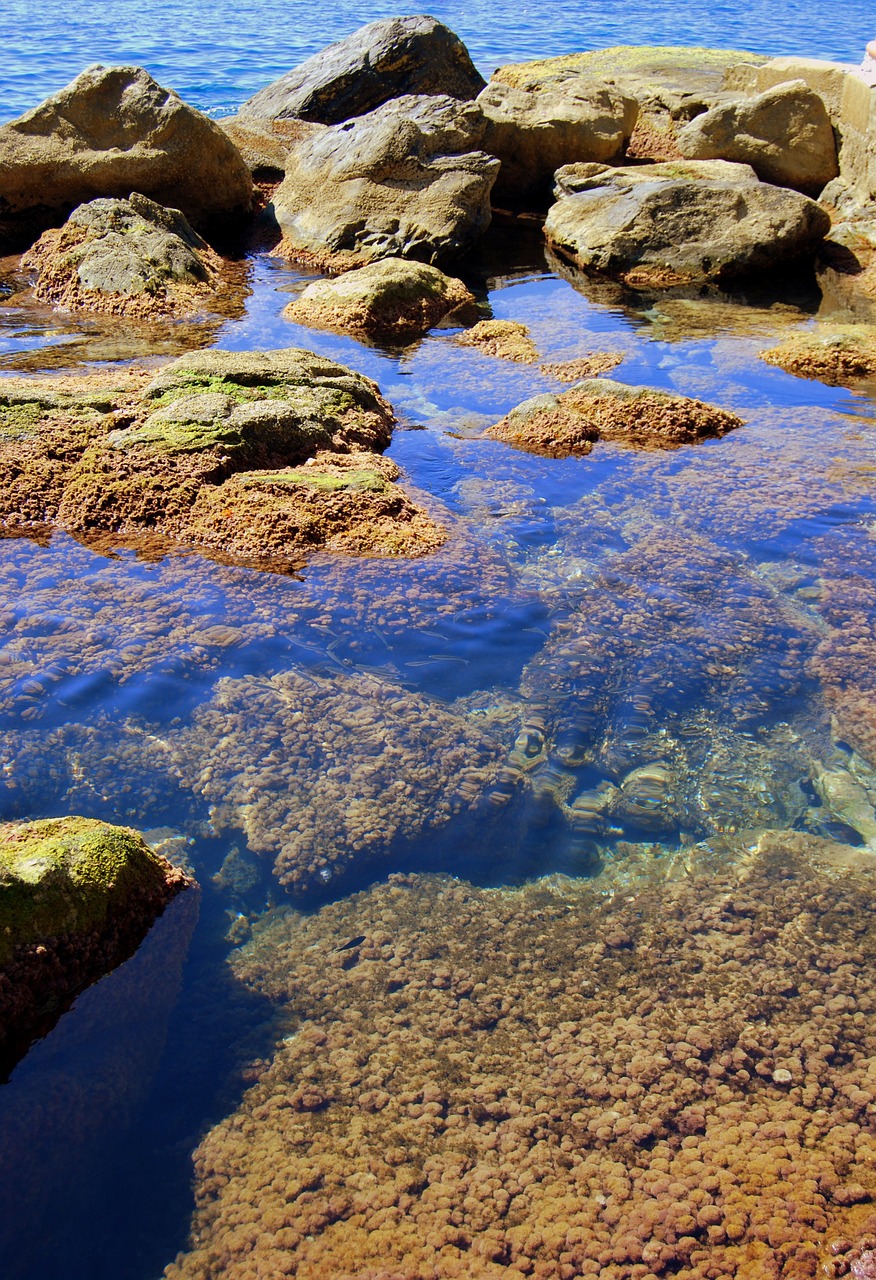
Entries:
{"type": "Polygon", "coordinates": [[[0,826],[0,1066],[137,948],[192,881],[92,818],[0,826]]]}

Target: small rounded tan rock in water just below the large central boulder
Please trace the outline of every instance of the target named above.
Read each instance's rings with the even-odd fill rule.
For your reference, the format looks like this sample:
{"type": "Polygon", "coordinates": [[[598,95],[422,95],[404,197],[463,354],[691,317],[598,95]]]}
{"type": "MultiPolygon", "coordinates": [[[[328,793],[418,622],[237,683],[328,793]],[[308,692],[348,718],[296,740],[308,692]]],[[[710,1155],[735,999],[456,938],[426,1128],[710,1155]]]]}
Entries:
{"type": "Polygon", "coordinates": [[[461,280],[435,266],[384,257],[337,279],[315,280],[283,315],[312,329],[412,338],[474,302],[461,280]]]}

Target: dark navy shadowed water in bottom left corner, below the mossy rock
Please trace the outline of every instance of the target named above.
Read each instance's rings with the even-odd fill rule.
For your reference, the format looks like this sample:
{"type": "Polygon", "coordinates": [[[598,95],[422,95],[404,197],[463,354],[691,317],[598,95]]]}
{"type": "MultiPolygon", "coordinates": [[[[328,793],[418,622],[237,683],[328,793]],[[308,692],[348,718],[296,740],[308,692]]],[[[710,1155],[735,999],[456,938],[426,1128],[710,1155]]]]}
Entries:
{"type": "Polygon", "coordinates": [[[154,1277],[184,1247],[191,1152],[273,1046],[224,924],[214,892],[175,899],[0,1087],[4,1280],[154,1277]]]}

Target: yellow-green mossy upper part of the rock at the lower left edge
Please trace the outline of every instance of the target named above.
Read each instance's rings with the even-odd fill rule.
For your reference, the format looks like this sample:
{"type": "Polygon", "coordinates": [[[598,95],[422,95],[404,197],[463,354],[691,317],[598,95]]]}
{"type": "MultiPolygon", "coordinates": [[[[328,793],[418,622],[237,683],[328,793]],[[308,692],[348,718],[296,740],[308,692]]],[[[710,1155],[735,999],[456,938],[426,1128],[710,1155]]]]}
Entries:
{"type": "Polygon", "coordinates": [[[164,899],[168,864],[137,832],[93,818],[0,827],[0,966],[15,951],[100,932],[138,900],[164,899]]]}

